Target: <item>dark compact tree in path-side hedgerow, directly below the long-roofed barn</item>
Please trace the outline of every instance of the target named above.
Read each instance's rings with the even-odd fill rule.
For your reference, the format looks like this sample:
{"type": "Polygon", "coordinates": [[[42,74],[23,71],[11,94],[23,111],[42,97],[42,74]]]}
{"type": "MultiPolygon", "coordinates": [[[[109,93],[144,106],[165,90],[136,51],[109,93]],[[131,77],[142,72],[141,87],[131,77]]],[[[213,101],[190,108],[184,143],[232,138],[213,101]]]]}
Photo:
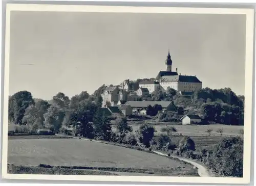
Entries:
{"type": "Polygon", "coordinates": [[[154,132],[155,128],[147,125],[147,124],[142,124],[139,127],[139,134],[141,135],[140,137],[140,142],[145,145],[145,147],[150,147],[150,141],[154,137],[154,132]]]}

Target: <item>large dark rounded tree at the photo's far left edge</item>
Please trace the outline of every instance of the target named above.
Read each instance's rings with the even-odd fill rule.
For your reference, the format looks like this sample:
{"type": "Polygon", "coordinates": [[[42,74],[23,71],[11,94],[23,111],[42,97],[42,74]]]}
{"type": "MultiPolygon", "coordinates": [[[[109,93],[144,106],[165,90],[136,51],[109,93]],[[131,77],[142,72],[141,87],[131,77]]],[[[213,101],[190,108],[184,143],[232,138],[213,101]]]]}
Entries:
{"type": "Polygon", "coordinates": [[[19,91],[9,98],[9,121],[14,124],[26,124],[22,121],[26,109],[34,104],[32,94],[28,91],[19,91]]]}

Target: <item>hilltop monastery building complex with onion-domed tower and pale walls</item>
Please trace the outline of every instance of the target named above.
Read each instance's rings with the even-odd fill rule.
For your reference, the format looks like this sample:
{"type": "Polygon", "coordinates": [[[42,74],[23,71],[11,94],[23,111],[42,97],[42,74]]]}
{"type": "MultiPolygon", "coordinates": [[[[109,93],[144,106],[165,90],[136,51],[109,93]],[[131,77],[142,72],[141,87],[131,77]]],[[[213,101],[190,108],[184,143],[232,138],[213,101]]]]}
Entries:
{"type": "Polygon", "coordinates": [[[196,76],[178,74],[177,68],[176,71],[172,71],[173,61],[169,51],[165,65],[166,70],[159,71],[154,81],[134,83],[127,79],[121,85],[106,88],[101,94],[102,107],[106,107],[107,104],[113,106],[125,101],[136,101],[139,97],[150,95],[156,90],[166,91],[168,87],[182,95],[189,95],[189,93],[202,89],[202,82],[196,76]]]}

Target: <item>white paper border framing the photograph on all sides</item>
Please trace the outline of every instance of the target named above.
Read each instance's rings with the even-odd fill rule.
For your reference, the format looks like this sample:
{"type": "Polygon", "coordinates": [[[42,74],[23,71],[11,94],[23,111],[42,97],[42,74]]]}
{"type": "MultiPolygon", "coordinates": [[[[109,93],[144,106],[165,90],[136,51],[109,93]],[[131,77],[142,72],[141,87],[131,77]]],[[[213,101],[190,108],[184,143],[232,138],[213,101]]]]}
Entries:
{"type": "Polygon", "coordinates": [[[233,8],[175,8],[175,7],[129,7],[94,5],[38,5],[7,4],[5,65],[4,65],[4,107],[3,107],[3,146],[2,177],[4,179],[36,180],[76,180],[76,181],[131,181],[165,183],[249,183],[251,166],[251,125],[252,125],[252,87],[253,87],[253,30],[254,10],[233,8]],[[173,177],[173,176],[89,176],[89,175],[38,175],[8,174],[8,98],[9,98],[9,53],[10,53],[10,16],[11,11],[52,11],[52,12],[116,12],[116,13],[183,13],[183,14],[244,14],[246,15],[246,58],[245,58],[245,118],[244,118],[244,161],[243,177],[173,177]]]}

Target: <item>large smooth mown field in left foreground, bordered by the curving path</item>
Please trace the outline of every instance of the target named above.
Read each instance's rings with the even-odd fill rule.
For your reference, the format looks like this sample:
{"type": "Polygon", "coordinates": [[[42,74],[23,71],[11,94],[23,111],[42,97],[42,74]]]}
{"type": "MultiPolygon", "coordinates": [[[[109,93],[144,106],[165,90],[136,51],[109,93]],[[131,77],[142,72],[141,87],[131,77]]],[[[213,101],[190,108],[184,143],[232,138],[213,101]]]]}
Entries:
{"type": "MultiPolygon", "coordinates": [[[[109,173],[114,171],[118,175],[131,173],[132,175],[186,176],[193,170],[193,166],[189,164],[157,154],[79,139],[11,137],[8,140],[8,163],[15,166],[46,164],[54,166],[55,170],[59,169],[60,172],[63,172],[62,168],[66,168],[65,170],[91,169],[109,173]],[[74,166],[77,167],[74,168],[74,166]]],[[[88,175],[86,172],[77,174],[88,175]]],[[[90,172],[90,175],[92,174],[94,172],[90,172]]]]}

